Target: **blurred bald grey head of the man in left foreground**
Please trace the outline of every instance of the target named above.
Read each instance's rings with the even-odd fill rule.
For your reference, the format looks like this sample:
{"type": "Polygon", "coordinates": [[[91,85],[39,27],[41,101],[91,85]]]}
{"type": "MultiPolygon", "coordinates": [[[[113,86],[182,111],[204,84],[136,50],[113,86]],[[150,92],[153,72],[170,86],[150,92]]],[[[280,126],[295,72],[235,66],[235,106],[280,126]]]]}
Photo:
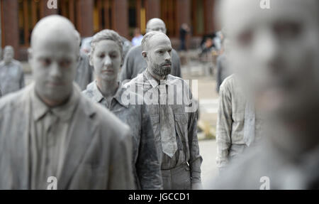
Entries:
{"type": "Polygon", "coordinates": [[[78,55],[74,28],[67,19],[47,17],[35,26],[29,63],[35,90],[45,102],[59,104],[71,95],[78,55]]]}

